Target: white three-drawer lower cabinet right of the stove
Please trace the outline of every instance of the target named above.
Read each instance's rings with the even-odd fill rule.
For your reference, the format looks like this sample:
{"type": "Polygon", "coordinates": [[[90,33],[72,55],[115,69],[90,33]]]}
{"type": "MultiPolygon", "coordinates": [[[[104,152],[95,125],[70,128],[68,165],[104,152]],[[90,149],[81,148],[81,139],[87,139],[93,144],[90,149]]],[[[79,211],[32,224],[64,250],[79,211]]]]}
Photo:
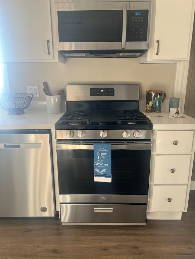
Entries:
{"type": "Polygon", "coordinates": [[[147,219],[187,212],[194,142],[194,130],[153,130],[147,219]]]}

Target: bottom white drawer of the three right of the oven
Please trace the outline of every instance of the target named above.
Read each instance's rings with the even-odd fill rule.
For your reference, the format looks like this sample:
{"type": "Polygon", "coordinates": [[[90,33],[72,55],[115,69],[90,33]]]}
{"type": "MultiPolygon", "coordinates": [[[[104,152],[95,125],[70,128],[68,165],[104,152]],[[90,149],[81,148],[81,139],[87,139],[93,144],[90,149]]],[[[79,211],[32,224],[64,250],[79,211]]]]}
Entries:
{"type": "Polygon", "coordinates": [[[153,186],[151,211],[184,211],[187,186],[153,186]],[[170,202],[169,202],[170,201],[170,202]]]}

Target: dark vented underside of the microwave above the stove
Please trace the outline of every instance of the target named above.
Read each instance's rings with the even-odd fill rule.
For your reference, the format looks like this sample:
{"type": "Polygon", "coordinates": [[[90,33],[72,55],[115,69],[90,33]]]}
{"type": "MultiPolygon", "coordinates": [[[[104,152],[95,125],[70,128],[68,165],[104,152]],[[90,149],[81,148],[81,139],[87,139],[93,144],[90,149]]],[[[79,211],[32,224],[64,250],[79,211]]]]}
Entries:
{"type": "Polygon", "coordinates": [[[66,51],[59,50],[65,58],[137,58],[147,50],[93,50],[93,51],[66,51]]]}

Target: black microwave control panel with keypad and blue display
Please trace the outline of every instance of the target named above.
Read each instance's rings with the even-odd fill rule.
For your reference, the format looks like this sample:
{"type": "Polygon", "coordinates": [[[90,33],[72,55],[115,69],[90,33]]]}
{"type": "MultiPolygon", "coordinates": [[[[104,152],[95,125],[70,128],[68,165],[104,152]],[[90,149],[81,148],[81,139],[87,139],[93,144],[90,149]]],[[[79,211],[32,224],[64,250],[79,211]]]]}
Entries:
{"type": "Polygon", "coordinates": [[[148,10],[129,10],[128,41],[147,41],[148,10]]]}

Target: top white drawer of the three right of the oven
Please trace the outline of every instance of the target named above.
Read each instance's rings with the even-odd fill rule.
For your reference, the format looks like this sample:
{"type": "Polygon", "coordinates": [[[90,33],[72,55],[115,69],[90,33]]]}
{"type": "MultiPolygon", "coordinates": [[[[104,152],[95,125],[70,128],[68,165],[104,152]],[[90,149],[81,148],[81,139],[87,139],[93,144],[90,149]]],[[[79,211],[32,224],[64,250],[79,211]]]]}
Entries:
{"type": "Polygon", "coordinates": [[[156,153],[190,153],[193,131],[157,131],[156,153]]]}

